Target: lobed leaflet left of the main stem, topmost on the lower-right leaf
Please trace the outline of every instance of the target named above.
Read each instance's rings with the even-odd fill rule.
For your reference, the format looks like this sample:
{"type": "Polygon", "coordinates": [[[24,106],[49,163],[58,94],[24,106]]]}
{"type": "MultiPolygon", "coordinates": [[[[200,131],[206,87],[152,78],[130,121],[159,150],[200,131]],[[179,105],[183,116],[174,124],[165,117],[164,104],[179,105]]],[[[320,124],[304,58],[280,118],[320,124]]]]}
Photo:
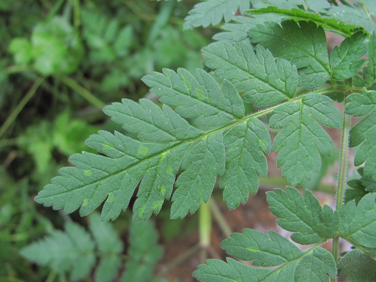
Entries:
{"type": "Polygon", "coordinates": [[[340,220],[337,211],[327,205],[321,208],[320,203],[311,191],[306,190],[305,196],[291,186],[286,192],[276,189],[267,192],[270,211],[283,229],[297,232],[291,235],[296,243],[308,245],[321,240],[334,238],[339,229],[340,220]]]}

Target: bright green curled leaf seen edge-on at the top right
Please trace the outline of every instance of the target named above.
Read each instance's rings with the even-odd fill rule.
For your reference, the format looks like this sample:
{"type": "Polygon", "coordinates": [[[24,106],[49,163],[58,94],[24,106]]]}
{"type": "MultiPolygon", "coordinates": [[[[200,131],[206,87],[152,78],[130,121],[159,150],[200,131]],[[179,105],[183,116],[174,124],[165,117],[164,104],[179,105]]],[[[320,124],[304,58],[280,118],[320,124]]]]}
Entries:
{"type": "MultiPolygon", "coordinates": [[[[331,9],[333,8],[341,9],[343,7],[346,7],[346,6],[345,5],[334,6],[331,9]]],[[[327,14],[332,15],[331,9],[329,10],[327,14]]],[[[249,14],[255,14],[255,15],[272,13],[272,14],[289,17],[293,19],[294,21],[313,21],[315,24],[323,27],[323,29],[325,30],[340,33],[346,37],[351,36],[354,30],[360,30],[360,31],[364,30],[362,27],[363,25],[361,23],[353,22],[352,24],[348,24],[348,22],[345,21],[345,19],[343,19],[343,22],[338,21],[338,19],[340,18],[338,18],[337,16],[334,18],[329,18],[329,17],[321,16],[317,13],[305,12],[302,9],[296,9],[296,8],[280,9],[280,8],[277,8],[276,6],[269,6],[267,8],[253,9],[253,10],[246,11],[246,12],[249,14]]],[[[351,15],[349,17],[351,17],[351,15]]]]}

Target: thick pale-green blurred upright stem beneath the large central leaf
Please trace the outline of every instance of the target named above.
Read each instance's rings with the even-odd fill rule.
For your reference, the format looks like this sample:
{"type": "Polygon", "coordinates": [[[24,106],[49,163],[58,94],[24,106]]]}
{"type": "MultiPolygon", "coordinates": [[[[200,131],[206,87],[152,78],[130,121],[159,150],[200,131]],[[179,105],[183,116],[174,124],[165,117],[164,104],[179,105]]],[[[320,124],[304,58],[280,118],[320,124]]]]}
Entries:
{"type": "Polygon", "coordinates": [[[201,261],[205,262],[206,250],[210,246],[211,237],[211,213],[210,203],[204,203],[201,200],[199,207],[199,235],[200,235],[200,247],[201,247],[201,261]]]}

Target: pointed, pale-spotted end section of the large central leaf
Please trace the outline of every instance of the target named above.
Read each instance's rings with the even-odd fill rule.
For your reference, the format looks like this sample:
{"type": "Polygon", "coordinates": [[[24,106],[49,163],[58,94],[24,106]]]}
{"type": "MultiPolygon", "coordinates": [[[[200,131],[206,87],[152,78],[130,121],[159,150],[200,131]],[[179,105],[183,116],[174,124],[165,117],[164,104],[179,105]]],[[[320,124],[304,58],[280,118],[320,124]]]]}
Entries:
{"type": "Polygon", "coordinates": [[[61,168],[61,176],[54,177],[35,198],[37,202],[54,209],[64,208],[70,213],[80,208],[81,215],[94,211],[105,199],[102,220],[115,219],[128,206],[130,197],[150,167],[158,164],[161,156],[154,156],[171,144],[141,143],[121,133],[112,135],[99,131],[91,135],[87,144],[105,156],[83,152],[69,161],[76,167],[61,168]]]}

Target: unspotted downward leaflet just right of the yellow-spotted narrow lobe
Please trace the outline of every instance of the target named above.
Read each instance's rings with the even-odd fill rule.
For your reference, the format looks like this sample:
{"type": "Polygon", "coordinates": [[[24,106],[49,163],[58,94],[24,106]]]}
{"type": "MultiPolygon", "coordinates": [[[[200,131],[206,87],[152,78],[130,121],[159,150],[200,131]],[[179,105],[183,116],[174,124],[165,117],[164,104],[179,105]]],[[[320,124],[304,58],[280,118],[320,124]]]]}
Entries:
{"type": "Polygon", "coordinates": [[[182,168],[185,171],[176,180],[178,188],[172,197],[171,218],[183,218],[188,211],[193,213],[199,208],[201,199],[205,203],[209,200],[217,174],[223,174],[225,168],[222,132],[193,143],[182,168]]]}

